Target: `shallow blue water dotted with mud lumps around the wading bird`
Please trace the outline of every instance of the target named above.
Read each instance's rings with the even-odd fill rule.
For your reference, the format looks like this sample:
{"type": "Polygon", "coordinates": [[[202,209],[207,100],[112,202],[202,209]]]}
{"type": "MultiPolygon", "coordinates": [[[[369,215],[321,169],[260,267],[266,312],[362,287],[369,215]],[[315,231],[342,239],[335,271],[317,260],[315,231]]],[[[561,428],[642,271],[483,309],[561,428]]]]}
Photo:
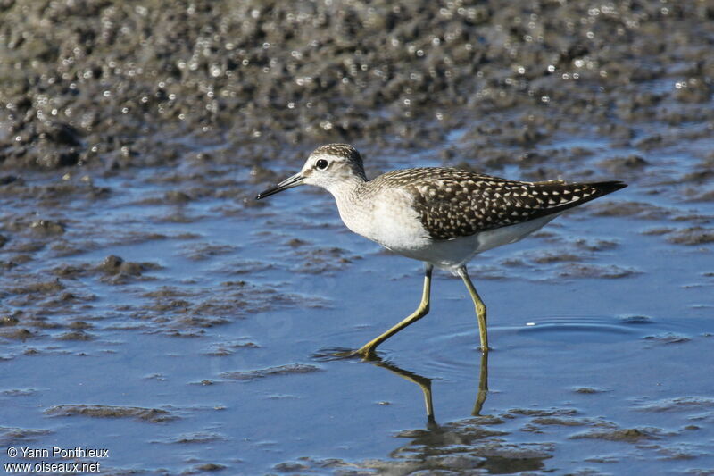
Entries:
{"type": "MultiPolygon", "coordinates": [[[[543,150],[576,146],[590,154],[567,177],[623,153],[593,138],[543,150]]],[[[107,448],[115,474],[710,471],[714,261],[710,240],[687,243],[714,205],[661,185],[691,155],[647,160],[641,177],[600,172],[629,188],[474,260],[487,362],[444,272],[381,363],[320,357],[410,313],[422,280],[345,230],[325,193],[256,204],[267,180],[190,161],[26,175],[40,200],[8,198],[0,248],[0,438],[107,448]]]]}

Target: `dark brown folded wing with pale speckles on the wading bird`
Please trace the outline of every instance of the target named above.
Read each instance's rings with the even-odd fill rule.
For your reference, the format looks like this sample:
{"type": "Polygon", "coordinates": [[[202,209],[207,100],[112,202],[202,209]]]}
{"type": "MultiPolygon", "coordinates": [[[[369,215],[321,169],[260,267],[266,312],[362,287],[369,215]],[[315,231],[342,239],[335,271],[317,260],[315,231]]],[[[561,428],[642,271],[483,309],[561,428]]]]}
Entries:
{"type": "Polygon", "coordinates": [[[627,187],[616,181],[522,182],[440,167],[394,171],[382,177],[392,187],[411,192],[430,238],[441,240],[560,213],[627,187]]]}

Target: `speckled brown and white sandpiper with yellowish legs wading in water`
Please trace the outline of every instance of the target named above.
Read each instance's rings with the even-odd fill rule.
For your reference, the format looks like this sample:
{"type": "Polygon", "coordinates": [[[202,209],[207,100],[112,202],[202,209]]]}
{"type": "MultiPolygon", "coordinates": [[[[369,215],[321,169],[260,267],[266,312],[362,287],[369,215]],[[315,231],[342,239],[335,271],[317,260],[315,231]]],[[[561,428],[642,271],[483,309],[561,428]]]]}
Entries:
{"type": "Polygon", "coordinates": [[[627,187],[620,181],[506,180],[445,167],[390,171],[367,180],[357,149],[329,144],[312,152],[302,171],[256,199],[303,184],[325,188],[335,196],[340,217],[353,232],[424,262],[419,307],[353,352],[364,358],[375,356],[379,344],[427,315],[434,266],[459,275],[469,289],[481,351],[488,352],[486,305],[469,278],[466,263],[478,253],[526,237],[569,208],[627,187]]]}

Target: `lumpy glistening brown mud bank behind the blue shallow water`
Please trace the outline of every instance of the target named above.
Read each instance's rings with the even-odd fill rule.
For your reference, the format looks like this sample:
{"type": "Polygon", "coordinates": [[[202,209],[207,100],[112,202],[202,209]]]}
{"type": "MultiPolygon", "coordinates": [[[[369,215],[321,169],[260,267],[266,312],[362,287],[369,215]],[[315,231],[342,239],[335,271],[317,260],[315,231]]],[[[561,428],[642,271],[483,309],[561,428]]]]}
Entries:
{"type": "MultiPolygon", "coordinates": [[[[714,115],[713,19],[708,2],[6,0],[0,162],[170,164],[196,153],[189,137],[270,167],[324,142],[414,149],[455,129],[444,154],[486,166],[537,162],[524,152],[558,134],[646,154],[682,138],[643,137],[641,121],[714,115]]],[[[602,169],[644,163],[626,159],[602,169]]]]}

